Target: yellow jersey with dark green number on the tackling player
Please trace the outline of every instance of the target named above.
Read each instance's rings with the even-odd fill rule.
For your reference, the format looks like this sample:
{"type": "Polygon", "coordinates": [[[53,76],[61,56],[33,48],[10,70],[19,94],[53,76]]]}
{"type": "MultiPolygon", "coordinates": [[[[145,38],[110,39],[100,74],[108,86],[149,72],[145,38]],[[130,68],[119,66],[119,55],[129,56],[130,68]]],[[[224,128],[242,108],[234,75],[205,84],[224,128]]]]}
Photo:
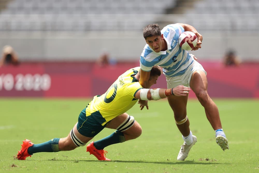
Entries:
{"type": "Polygon", "coordinates": [[[143,87],[134,77],[140,67],[131,68],[119,76],[119,78],[110,86],[110,88],[101,96],[94,96],[93,100],[85,109],[86,116],[99,112],[105,119],[104,126],[113,118],[125,113],[132,108],[138,99],[134,98],[137,91],[143,87]]]}

